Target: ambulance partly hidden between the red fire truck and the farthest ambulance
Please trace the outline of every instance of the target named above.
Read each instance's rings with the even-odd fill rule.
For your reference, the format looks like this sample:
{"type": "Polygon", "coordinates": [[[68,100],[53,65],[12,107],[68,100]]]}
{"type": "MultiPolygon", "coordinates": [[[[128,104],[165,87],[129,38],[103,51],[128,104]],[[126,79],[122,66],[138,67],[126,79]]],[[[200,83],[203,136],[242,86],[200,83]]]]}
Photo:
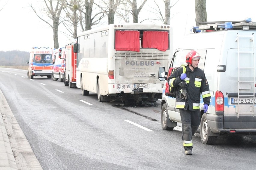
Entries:
{"type": "Polygon", "coordinates": [[[53,55],[53,72],[51,78],[53,81],[59,80],[63,82],[63,73],[65,68],[65,47],[58,48],[57,52],[53,55]]]}

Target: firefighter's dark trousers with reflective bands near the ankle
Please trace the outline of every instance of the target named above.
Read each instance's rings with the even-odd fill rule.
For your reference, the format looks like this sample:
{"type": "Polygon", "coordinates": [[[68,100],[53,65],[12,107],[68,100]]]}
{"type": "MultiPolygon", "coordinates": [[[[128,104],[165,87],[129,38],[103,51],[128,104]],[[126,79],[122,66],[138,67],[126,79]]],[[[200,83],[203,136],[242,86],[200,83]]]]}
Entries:
{"type": "Polygon", "coordinates": [[[200,125],[200,111],[180,109],[182,123],[182,140],[185,151],[192,150],[192,136],[196,133],[200,125]]]}

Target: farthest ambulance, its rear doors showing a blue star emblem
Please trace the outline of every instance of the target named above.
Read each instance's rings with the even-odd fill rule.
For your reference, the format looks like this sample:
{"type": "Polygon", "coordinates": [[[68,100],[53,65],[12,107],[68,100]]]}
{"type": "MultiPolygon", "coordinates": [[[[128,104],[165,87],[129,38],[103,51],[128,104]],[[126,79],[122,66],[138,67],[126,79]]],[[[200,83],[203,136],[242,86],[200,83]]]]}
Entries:
{"type": "Polygon", "coordinates": [[[33,47],[29,55],[27,76],[33,79],[34,76],[47,76],[51,78],[53,70],[53,50],[50,48],[33,47]]]}

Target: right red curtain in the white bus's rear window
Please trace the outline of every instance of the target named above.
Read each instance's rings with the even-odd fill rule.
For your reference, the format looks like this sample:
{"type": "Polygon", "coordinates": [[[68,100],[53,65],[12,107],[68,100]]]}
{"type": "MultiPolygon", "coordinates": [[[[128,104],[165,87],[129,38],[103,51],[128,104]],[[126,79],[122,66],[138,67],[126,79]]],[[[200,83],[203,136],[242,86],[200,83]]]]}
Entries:
{"type": "Polygon", "coordinates": [[[168,31],[143,31],[143,48],[157,48],[166,51],[169,48],[168,31]]]}

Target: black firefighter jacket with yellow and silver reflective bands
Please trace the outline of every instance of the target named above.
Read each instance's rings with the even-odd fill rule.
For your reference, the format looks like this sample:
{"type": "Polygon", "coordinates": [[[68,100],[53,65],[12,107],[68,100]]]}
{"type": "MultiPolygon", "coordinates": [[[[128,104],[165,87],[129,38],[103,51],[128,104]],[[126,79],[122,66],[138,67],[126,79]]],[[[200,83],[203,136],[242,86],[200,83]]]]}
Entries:
{"type": "Polygon", "coordinates": [[[187,106],[189,107],[189,110],[199,110],[200,109],[200,93],[203,97],[204,104],[210,104],[210,90],[208,81],[206,80],[205,74],[203,70],[200,68],[194,69],[192,72],[191,69],[186,66],[186,74],[187,78],[185,78],[183,81],[186,81],[187,86],[187,100],[184,100],[182,98],[179,98],[181,93],[181,86],[178,84],[181,83],[180,76],[183,73],[183,68],[179,68],[174,73],[170,75],[168,78],[168,84],[172,87],[177,87],[177,93],[176,93],[176,108],[178,109],[185,109],[187,110],[187,106]]]}

